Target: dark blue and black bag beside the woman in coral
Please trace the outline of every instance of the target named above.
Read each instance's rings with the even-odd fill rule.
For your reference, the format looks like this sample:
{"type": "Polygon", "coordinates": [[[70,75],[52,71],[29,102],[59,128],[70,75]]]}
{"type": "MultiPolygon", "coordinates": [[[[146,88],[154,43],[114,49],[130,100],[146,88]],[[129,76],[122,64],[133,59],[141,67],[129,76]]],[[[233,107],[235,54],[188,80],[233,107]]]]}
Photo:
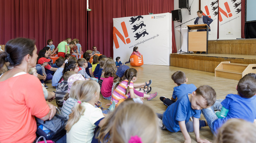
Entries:
{"type": "Polygon", "coordinates": [[[64,135],[66,135],[66,123],[67,117],[61,114],[55,114],[51,120],[43,121],[39,118],[35,118],[37,123],[36,133],[39,136],[44,136],[46,140],[57,141],[64,135]]]}

